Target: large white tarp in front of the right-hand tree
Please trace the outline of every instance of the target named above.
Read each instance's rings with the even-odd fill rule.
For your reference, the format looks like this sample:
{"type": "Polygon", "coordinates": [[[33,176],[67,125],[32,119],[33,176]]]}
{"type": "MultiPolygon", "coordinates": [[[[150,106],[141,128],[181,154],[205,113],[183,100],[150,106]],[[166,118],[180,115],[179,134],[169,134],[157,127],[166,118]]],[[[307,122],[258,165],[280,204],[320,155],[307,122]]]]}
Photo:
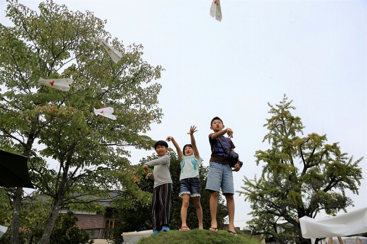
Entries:
{"type": "Polygon", "coordinates": [[[367,232],[367,207],[326,218],[299,219],[304,238],[345,236],[367,232]]]}

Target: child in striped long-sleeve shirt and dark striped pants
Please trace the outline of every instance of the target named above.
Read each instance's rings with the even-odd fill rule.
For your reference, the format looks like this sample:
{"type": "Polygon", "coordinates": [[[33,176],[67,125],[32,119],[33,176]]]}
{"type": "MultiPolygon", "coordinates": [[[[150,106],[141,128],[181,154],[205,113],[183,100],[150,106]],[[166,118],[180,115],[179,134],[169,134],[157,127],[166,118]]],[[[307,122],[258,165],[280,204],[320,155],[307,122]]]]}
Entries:
{"type": "Polygon", "coordinates": [[[152,198],[153,213],[153,233],[169,230],[169,218],[171,210],[172,179],[169,173],[169,156],[166,155],[168,144],[165,141],[158,141],[154,145],[159,158],[146,162],[143,166],[144,172],[148,167],[153,167],[153,174],[147,174],[147,178],[154,179],[154,189],[152,198]]]}

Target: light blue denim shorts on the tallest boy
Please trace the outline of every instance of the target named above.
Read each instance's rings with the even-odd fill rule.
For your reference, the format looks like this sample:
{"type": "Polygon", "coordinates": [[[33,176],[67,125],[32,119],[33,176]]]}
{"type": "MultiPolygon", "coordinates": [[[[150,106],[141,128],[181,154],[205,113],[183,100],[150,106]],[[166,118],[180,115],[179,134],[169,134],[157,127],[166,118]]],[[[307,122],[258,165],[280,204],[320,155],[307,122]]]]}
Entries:
{"type": "Polygon", "coordinates": [[[206,189],[220,192],[221,188],[223,194],[234,194],[232,169],[229,164],[210,162],[206,189]]]}

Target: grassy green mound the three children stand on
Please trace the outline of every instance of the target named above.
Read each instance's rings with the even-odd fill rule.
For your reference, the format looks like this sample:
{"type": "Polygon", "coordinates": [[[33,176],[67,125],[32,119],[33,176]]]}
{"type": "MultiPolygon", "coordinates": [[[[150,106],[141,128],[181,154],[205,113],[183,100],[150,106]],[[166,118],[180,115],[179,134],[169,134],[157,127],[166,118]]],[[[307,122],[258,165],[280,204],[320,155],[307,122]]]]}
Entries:
{"type": "Polygon", "coordinates": [[[153,236],[141,238],[138,244],[259,244],[260,241],[254,237],[237,231],[238,236],[234,236],[227,232],[227,230],[219,230],[212,232],[210,230],[193,229],[189,231],[169,230],[167,232],[160,232],[153,236]]]}

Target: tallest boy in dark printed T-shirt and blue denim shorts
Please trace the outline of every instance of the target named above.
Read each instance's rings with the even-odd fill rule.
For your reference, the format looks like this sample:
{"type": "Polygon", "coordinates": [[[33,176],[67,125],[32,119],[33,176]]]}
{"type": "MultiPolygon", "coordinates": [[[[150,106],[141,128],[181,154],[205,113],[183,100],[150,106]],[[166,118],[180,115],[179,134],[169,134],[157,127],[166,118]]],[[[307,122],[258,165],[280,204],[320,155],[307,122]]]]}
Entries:
{"type": "Polygon", "coordinates": [[[229,166],[229,156],[225,153],[218,138],[222,139],[222,143],[229,150],[234,151],[235,148],[232,140],[233,131],[230,128],[224,129],[223,121],[219,117],[214,117],[210,123],[210,129],[214,133],[209,135],[209,143],[212,149],[212,155],[209,163],[208,180],[206,190],[210,191],[210,215],[212,218],[211,227],[209,230],[218,232],[217,223],[217,207],[219,191],[222,188],[222,193],[227,200],[228,210],[228,232],[237,235],[234,229],[234,187],[232,171],[239,171],[242,167],[242,162],[239,161],[232,170],[229,166]],[[227,134],[229,138],[224,137],[227,134]]]}

